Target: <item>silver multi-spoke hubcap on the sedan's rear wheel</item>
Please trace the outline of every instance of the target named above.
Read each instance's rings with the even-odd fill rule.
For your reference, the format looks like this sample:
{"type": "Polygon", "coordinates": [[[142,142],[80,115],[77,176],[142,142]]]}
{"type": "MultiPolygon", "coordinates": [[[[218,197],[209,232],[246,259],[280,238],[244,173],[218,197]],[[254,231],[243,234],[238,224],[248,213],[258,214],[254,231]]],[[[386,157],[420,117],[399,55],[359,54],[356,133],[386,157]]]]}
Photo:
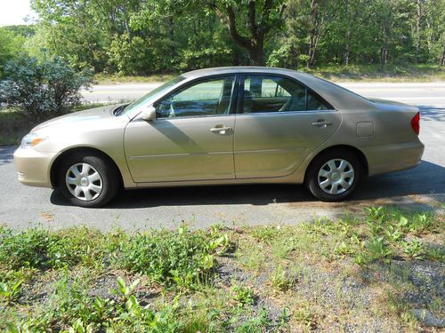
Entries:
{"type": "Polygon", "coordinates": [[[319,186],[327,194],[342,194],[352,186],[354,175],[351,163],[336,158],[320,168],[319,186]]]}

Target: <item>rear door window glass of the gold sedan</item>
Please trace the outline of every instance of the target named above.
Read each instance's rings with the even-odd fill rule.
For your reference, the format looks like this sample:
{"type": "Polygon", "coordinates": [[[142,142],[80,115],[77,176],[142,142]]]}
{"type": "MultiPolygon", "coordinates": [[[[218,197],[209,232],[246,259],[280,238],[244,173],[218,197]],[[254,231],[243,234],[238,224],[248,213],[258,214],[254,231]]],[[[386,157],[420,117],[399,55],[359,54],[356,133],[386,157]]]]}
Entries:
{"type": "Polygon", "coordinates": [[[332,109],[316,94],[279,75],[246,75],[243,113],[270,113],[332,109]]]}

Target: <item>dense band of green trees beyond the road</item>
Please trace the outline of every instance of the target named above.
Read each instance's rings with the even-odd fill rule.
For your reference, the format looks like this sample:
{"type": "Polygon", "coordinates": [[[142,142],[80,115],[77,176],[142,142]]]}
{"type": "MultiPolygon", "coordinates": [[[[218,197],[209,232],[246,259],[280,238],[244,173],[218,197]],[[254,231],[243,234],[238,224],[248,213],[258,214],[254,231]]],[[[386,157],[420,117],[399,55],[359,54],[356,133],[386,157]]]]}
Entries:
{"type": "Polygon", "coordinates": [[[386,63],[445,63],[445,0],[32,0],[32,4],[41,20],[36,34],[27,36],[27,52],[42,59],[44,47],[47,56],[96,72],[147,75],[264,63],[292,68],[380,64],[384,70],[386,63]]]}

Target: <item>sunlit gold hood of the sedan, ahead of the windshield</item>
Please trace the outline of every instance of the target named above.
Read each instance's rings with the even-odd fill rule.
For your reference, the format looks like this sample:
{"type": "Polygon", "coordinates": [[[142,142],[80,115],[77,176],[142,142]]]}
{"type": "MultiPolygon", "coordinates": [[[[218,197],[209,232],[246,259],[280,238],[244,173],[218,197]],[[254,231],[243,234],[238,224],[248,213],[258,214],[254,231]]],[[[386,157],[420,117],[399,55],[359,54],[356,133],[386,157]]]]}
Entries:
{"type": "Polygon", "coordinates": [[[38,124],[31,131],[40,131],[44,129],[48,129],[54,126],[69,126],[69,125],[78,125],[83,122],[90,122],[92,120],[100,120],[103,118],[114,117],[113,110],[118,105],[112,105],[108,107],[94,107],[85,111],[74,112],[69,115],[61,115],[57,118],[53,118],[48,120],[47,122],[38,124]]]}

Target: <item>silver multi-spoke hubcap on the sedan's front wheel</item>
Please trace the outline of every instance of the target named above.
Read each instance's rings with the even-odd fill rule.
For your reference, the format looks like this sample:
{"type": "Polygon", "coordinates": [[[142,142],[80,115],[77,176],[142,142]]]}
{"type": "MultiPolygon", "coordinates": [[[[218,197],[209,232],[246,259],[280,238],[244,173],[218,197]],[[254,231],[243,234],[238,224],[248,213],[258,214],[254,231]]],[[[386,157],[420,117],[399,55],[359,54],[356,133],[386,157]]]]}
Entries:
{"type": "Polygon", "coordinates": [[[88,163],[71,165],[65,176],[69,192],[77,199],[92,201],[102,192],[102,178],[97,170],[88,163]]]}

